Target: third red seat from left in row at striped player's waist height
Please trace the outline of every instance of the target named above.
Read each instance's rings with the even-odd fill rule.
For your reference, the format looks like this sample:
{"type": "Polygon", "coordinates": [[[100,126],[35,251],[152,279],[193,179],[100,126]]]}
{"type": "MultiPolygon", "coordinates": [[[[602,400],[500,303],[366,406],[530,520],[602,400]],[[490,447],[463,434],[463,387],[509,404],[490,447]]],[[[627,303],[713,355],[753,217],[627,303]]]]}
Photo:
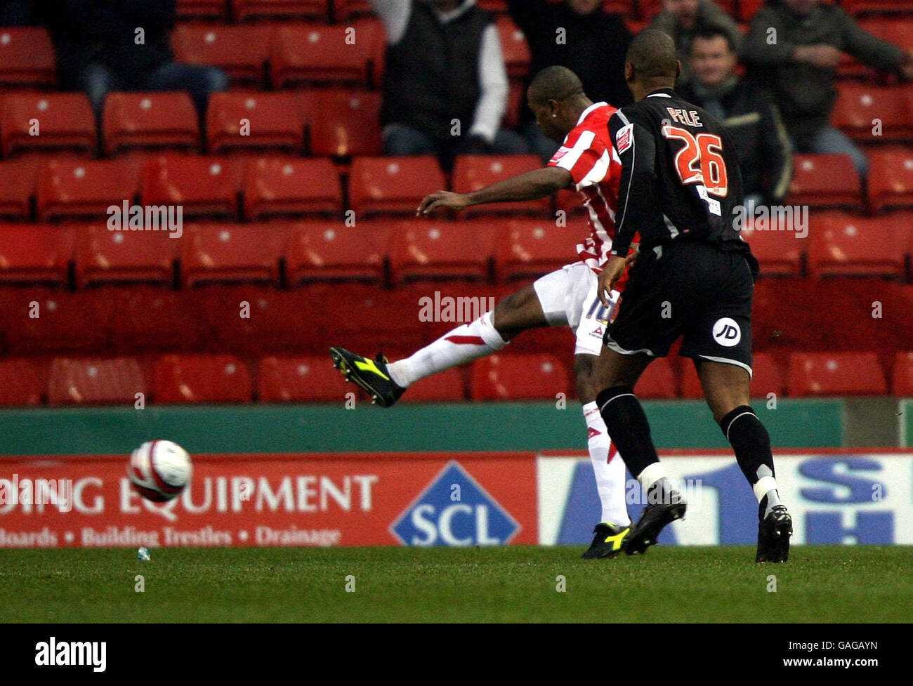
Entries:
{"type": "Polygon", "coordinates": [[[200,224],[181,245],[184,284],[279,282],[287,231],[275,224],[200,224]]]}

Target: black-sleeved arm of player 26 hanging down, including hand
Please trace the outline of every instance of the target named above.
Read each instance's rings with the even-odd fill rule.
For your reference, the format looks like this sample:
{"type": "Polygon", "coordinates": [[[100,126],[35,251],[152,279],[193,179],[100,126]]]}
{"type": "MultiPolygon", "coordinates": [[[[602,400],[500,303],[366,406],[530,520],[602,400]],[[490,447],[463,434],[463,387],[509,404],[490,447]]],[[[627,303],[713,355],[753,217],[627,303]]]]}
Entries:
{"type": "Polygon", "coordinates": [[[622,163],[618,184],[618,212],[612,252],[599,275],[599,299],[608,306],[609,294],[624,274],[637,229],[656,212],[656,142],[645,126],[616,112],[609,120],[609,133],[622,163]]]}

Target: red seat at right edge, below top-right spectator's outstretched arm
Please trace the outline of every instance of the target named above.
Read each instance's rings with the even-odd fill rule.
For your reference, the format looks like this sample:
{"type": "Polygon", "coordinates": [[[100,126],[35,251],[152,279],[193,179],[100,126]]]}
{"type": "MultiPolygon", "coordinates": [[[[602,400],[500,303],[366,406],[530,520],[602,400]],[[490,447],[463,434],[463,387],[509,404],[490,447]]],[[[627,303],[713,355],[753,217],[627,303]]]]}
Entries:
{"type": "Polygon", "coordinates": [[[862,142],[913,138],[913,116],[905,88],[878,88],[865,84],[841,86],[832,123],[850,138],[862,142]],[[880,122],[880,133],[876,125],[880,122]]]}

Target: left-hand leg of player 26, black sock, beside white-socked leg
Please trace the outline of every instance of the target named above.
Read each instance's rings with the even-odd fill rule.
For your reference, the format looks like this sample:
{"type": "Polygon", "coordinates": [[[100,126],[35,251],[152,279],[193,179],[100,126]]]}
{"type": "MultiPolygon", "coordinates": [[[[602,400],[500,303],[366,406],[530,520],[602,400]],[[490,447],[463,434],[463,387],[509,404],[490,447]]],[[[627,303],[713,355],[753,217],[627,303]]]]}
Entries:
{"type": "Polygon", "coordinates": [[[596,404],[628,470],[635,475],[646,493],[646,507],[627,536],[624,551],[628,555],[644,553],[656,544],[666,525],[685,516],[687,504],[666,478],[650,435],[650,422],[634,394],[634,385],[650,363],[644,354],[622,355],[603,348],[601,375],[609,388],[599,392],[596,404]]]}

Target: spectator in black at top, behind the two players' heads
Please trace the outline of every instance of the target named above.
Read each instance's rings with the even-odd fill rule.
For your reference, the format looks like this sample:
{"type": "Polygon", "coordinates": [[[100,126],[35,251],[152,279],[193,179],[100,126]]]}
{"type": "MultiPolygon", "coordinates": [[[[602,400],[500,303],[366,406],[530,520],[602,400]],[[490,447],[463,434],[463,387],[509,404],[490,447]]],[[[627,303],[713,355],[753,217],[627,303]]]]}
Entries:
{"type": "MultiPolygon", "coordinates": [[[[603,10],[601,0],[508,0],[508,8],[530,44],[530,74],[555,65],[567,67],[580,77],[583,92],[595,101],[616,108],[631,103],[631,91],[624,81],[624,55],[633,36],[621,16],[603,10]]],[[[557,145],[536,126],[525,105],[521,124],[533,151],[543,161],[551,160],[557,145]]]]}

